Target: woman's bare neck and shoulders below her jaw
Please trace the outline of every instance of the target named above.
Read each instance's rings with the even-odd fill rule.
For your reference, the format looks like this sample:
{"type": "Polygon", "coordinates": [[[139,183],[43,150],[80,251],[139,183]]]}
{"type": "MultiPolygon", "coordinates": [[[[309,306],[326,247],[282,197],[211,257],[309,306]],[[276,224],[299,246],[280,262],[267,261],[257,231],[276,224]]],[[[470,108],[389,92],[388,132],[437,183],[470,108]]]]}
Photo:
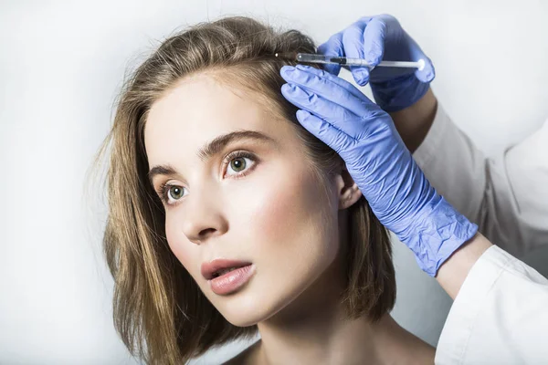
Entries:
{"type": "Polygon", "coordinates": [[[433,363],[434,348],[385,314],[347,318],[341,268],[332,265],[311,287],[273,317],[259,322],[259,364],[433,363]]]}

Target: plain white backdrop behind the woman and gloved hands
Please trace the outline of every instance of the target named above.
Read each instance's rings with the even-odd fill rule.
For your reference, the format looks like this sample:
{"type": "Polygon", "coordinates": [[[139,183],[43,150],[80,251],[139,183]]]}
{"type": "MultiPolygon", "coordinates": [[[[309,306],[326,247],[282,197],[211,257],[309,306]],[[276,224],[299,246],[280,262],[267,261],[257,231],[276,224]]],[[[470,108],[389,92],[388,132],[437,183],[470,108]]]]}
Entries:
{"type": "MultiPolygon", "coordinates": [[[[545,1],[0,1],[0,363],[132,364],[111,324],[104,206],[83,186],[126,70],[174,30],[247,15],[318,44],[389,13],[433,59],[433,89],[489,155],[548,116],[545,1]]],[[[96,193],[96,192],[93,192],[96,193]]],[[[548,274],[548,252],[525,261],[548,274]]],[[[449,297],[395,242],[395,319],[432,345],[449,297]]],[[[193,363],[218,363],[243,345],[193,363]]]]}

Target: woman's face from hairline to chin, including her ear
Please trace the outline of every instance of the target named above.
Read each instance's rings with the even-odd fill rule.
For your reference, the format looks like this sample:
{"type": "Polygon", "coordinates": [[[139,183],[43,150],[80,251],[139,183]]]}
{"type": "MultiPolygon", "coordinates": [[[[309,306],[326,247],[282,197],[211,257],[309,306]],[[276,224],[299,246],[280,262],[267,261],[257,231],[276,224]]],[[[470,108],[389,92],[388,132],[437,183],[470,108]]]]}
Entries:
{"type": "Polygon", "coordinates": [[[340,186],[323,198],[290,121],[197,74],[153,104],[144,138],[167,241],[229,322],[270,318],[332,265],[340,186]]]}

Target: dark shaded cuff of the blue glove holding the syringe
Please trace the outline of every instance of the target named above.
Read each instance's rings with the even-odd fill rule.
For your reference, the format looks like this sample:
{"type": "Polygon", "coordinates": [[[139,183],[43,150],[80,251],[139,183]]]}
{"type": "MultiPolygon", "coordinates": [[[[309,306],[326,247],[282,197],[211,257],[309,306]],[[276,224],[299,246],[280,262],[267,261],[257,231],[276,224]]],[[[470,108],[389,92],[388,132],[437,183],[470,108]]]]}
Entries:
{"type": "Polygon", "coordinates": [[[385,111],[404,110],[421,99],[430,83],[421,82],[415,74],[400,76],[389,81],[371,81],[375,102],[385,111]]]}

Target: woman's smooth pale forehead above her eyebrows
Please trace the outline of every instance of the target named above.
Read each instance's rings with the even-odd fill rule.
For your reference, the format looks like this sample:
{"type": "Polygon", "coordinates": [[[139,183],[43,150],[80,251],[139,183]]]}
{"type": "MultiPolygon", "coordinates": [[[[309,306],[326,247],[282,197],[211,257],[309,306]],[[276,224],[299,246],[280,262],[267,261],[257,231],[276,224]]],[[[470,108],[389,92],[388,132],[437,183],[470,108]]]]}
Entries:
{"type": "Polygon", "coordinates": [[[293,134],[290,122],[272,115],[252,93],[204,74],[184,78],[149,111],[144,130],[149,162],[195,157],[205,142],[234,130],[257,130],[275,141],[293,134]]]}

